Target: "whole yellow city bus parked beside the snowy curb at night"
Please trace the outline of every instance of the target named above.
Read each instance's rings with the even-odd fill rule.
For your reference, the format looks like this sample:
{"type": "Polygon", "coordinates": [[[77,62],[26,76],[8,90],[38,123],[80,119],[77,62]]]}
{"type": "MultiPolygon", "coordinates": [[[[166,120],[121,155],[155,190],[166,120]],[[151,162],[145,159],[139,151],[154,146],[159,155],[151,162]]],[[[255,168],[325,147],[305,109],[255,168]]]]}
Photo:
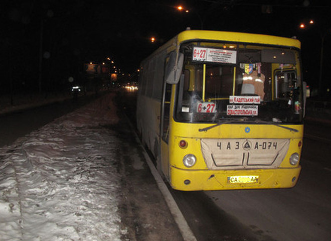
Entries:
{"type": "Polygon", "coordinates": [[[289,188],[299,177],[300,42],[187,30],[140,65],[136,121],[172,188],[289,188]]]}

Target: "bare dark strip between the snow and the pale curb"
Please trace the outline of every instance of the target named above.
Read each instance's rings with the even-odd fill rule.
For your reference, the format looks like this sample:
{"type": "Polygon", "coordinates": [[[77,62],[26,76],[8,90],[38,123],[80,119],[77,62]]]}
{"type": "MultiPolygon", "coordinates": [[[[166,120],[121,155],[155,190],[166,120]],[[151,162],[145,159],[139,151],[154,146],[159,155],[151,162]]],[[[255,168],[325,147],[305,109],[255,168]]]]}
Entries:
{"type": "MultiPolygon", "coordinates": [[[[119,113],[121,121],[110,126],[121,140],[118,147],[121,174],[121,223],[127,232],[123,240],[183,240],[183,236],[169,203],[165,201],[157,181],[147,165],[145,151],[137,143],[127,119],[119,113]]],[[[193,240],[193,239],[192,239],[193,240]]]]}

